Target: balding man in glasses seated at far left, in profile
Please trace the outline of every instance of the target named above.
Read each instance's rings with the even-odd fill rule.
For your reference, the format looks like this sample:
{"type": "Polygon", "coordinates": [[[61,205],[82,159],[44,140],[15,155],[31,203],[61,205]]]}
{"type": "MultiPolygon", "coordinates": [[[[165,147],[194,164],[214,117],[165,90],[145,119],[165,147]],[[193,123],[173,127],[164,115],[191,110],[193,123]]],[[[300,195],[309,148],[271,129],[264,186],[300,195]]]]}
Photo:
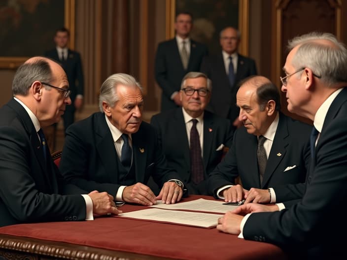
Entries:
{"type": "Polygon", "coordinates": [[[64,182],[50,157],[41,128],[58,122],[71,103],[63,68],[31,58],[17,69],[12,93],[0,108],[0,227],[119,213],[111,195],[87,195],[64,182]]]}

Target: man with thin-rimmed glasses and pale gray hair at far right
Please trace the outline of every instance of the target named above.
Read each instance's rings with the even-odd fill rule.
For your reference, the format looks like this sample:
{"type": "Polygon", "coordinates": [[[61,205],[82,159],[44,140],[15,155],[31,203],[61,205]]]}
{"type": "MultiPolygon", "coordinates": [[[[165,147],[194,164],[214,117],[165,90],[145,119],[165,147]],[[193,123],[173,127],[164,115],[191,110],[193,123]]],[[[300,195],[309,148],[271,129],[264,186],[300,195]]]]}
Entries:
{"type": "Polygon", "coordinates": [[[346,259],[347,49],[334,35],[317,32],[295,37],[288,47],[281,77],[288,110],[314,126],[303,197],[281,211],[248,203],[220,218],[217,228],[300,259],[346,259]]]}

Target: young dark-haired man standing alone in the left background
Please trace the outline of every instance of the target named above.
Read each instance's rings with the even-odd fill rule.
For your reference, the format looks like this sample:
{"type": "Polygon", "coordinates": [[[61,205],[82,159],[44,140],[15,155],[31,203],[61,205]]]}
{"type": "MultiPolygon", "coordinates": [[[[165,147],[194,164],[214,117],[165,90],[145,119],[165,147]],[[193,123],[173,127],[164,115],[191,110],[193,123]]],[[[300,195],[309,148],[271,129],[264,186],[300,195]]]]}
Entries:
{"type": "Polygon", "coordinates": [[[74,122],[75,110],[82,107],[84,89],[81,56],[78,52],[68,48],[69,36],[68,29],[58,29],[54,36],[56,48],[47,51],[44,55],[59,62],[68,76],[71,90],[71,105],[67,106],[63,115],[65,130],[74,122]]]}

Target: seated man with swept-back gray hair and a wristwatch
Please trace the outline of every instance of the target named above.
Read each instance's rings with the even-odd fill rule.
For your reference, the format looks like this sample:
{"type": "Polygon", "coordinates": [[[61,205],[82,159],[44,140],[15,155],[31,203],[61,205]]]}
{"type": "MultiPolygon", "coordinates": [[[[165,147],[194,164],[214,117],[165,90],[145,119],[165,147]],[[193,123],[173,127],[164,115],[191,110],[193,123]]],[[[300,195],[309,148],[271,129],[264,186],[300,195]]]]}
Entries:
{"type": "Polygon", "coordinates": [[[134,77],[117,73],[100,89],[101,112],[67,130],[60,169],[80,188],[106,191],[116,201],[170,204],[183,195],[183,183],[167,167],[155,130],[142,122],[142,89],[134,77]],[[158,196],[146,186],[150,176],[162,187],[158,196]]]}

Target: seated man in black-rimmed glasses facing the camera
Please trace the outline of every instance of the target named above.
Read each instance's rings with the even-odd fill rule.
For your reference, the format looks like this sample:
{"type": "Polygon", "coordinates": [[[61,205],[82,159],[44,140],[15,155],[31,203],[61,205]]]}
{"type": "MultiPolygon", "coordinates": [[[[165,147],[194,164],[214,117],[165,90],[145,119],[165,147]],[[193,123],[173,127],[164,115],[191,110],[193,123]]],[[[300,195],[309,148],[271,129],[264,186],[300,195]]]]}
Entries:
{"type": "Polygon", "coordinates": [[[182,107],[151,119],[169,166],[177,170],[190,194],[208,195],[208,174],[231,145],[231,122],[205,110],[211,91],[211,81],[204,73],[189,72],[179,92],[182,107]]]}

